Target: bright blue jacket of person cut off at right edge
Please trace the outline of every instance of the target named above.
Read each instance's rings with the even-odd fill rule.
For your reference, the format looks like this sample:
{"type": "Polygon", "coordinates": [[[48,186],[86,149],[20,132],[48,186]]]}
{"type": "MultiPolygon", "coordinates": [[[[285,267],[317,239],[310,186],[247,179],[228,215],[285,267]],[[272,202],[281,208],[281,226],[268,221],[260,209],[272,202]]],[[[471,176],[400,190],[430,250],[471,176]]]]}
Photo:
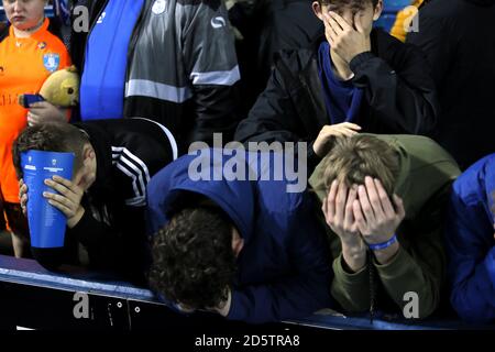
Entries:
{"type": "Polygon", "coordinates": [[[453,185],[448,219],[451,302],[466,320],[495,321],[495,154],[453,185]]]}

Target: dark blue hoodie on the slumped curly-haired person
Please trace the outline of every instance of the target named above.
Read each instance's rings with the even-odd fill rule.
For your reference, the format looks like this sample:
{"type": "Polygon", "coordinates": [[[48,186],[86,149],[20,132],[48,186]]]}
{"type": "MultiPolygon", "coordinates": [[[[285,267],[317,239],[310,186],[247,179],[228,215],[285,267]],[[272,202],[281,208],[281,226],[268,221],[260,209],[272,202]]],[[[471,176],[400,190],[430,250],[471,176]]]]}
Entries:
{"type": "MultiPolygon", "coordinates": [[[[263,160],[261,154],[224,156],[221,150],[204,150],[199,157],[211,165],[212,173],[221,172],[222,164],[233,158],[257,175],[273,169],[273,158],[263,160]],[[210,158],[210,153],[216,158],[210,158]]],[[[155,233],[167,223],[167,212],[184,190],[208,197],[230,216],[244,248],[238,258],[228,318],[261,323],[302,318],[329,307],[330,257],[311,197],[306,191],[287,193],[285,180],[261,177],[194,182],[188,168],[195,160],[198,157],[185,155],[150,182],[150,231],[155,233]]]]}

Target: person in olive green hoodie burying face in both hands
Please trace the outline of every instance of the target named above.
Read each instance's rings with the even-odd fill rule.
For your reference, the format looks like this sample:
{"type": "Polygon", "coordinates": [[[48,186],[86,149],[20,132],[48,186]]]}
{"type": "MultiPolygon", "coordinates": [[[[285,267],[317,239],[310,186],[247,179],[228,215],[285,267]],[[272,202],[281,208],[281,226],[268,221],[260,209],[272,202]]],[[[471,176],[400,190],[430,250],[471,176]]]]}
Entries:
{"type": "Polygon", "coordinates": [[[453,158],[424,136],[336,140],[310,184],[330,228],[331,294],[345,311],[426,318],[439,307],[444,206],[459,174],[453,158]]]}

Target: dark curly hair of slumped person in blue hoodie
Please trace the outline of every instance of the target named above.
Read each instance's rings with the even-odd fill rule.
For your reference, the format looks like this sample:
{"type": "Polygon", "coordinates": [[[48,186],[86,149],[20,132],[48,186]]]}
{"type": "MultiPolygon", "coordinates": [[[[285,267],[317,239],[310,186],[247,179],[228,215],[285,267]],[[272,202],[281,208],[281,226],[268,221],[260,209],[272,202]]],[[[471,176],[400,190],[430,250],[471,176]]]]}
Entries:
{"type": "Polygon", "coordinates": [[[150,286],[189,308],[219,307],[237,272],[232,221],[217,207],[185,208],[154,238],[150,286]]]}

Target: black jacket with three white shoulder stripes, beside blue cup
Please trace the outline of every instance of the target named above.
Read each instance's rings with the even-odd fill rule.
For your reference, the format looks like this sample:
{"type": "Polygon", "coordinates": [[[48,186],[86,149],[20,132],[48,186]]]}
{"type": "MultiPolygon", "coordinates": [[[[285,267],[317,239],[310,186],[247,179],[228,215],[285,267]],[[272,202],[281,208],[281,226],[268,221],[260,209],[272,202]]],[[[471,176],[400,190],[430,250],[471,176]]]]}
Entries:
{"type": "Polygon", "coordinates": [[[97,179],[82,198],[82,219],[66,237],[86,248],[92,268],[118,271],[138,280],[148,262],[147,183],[177,157],[175,140],[163,127],[143,119],[76,127],[89,135],[95,148],[97,179]]]}

